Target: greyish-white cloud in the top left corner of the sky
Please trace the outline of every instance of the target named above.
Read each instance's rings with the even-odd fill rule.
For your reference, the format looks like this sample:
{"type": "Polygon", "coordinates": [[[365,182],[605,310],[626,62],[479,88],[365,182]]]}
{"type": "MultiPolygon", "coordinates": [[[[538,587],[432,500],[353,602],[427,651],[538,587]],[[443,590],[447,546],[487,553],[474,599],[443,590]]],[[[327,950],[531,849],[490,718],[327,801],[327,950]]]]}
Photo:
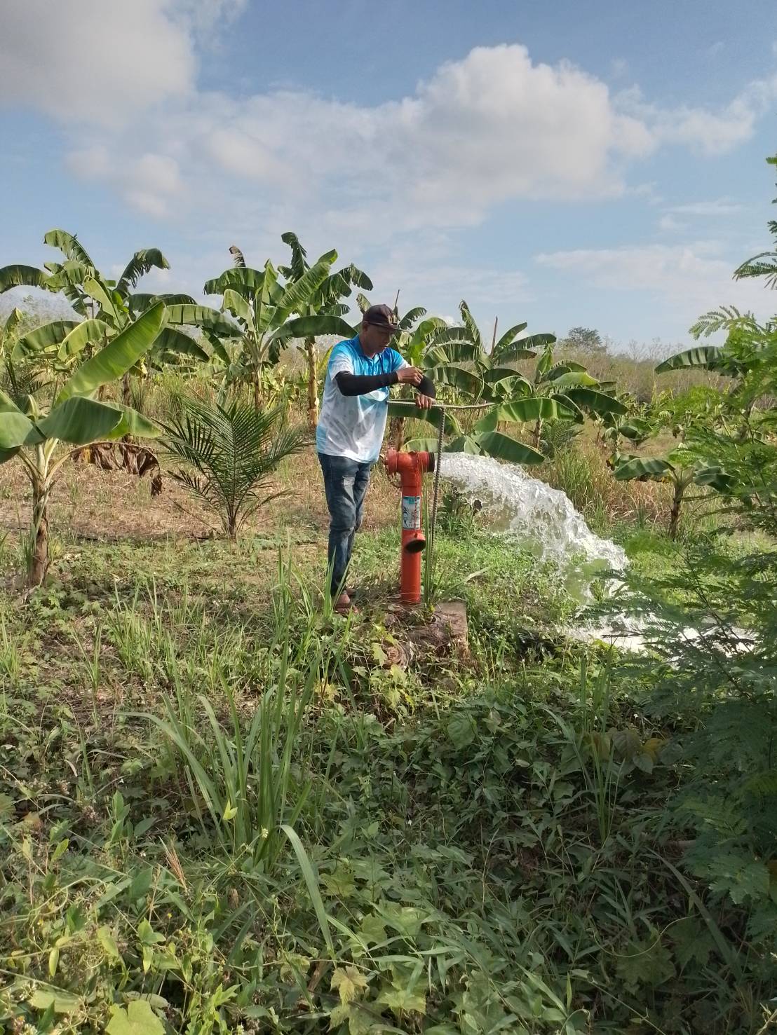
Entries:
{"type": "Polygon", "coordinates": [[[24,0],[0,14],[0,103],[115,127],[192,89],[189,32],[171,4],[24,0]]]}

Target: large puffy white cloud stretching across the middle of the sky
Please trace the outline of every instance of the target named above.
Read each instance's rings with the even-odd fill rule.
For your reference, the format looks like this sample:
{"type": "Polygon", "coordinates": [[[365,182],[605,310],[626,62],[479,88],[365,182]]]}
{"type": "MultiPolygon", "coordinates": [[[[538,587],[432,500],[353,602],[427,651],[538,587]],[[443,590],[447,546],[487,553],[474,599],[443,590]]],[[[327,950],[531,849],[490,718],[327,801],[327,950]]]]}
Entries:
{"type": "Polygon", "coordinates": [[[520,46],[476,48],[412,95],[376,106],[299,90],[240,100],[193,94],[168,103],[164,118],[112,135],[112,168],[100,161],[98,174],[85,155],[105,147],[105,135],[79,136],[74,172],[113,182],[147,212],[221,204],[226,175],[247,181],[234,188],[243,199],[249,182],[270,186],[281,208],[326,206],[354,227],[369,212],[392,232],[473,225],[511,199],[620,195],[624,164],[654,147],[642,122],[613,108],[604,83],[568,62],[534,64],[520,46]],[[186,170],[191,189],[177,205],[124,186],[139,135],[141,146],[186,170]],[[313,170],[312,155],[325,156],[313,170]]]}

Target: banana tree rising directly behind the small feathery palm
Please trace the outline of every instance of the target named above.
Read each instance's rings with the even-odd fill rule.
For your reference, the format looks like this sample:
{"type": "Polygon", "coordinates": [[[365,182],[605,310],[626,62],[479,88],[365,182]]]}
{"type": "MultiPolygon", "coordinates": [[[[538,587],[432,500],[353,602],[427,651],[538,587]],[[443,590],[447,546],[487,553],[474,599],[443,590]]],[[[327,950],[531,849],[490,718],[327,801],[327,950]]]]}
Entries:
{"type": "Polygon", "coordinates": [[[222,312],[230,313],[239,329],[239,353],[222,350],[232,376],[244,378],[254,387],[254,404],[262,405],[262,374],[278,363],[281,352],[293,338],[319,334],[343,334],[350,337],[353,328],[335,314],[308,314],[317,293],[330,275],[337,252],[322,255],[301,275],[287,284],[279,280],[279,271],[269,259],[264,268],[246,266],[242,253],[230,248],[235,265],[221,276],[207,280],[206,295],[222,295],[222,312]]]}

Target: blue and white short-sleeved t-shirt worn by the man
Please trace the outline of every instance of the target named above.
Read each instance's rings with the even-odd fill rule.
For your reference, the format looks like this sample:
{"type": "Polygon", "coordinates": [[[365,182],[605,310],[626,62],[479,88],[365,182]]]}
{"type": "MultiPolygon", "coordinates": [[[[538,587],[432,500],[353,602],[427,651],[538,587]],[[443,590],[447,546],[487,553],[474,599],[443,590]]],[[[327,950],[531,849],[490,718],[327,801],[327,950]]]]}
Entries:
{"type": "Polygon", "coordinates": [[[332,350],[326,367],[321,415],[316,428],[316,449],[329,456],[347,456],[373,464],[380,454],[388,413],[388,389],[376,388],[367,395],[343,395],[338,374],[391,374],[407,366],[395,349],[366,356],[358,334],[332,350]]]}

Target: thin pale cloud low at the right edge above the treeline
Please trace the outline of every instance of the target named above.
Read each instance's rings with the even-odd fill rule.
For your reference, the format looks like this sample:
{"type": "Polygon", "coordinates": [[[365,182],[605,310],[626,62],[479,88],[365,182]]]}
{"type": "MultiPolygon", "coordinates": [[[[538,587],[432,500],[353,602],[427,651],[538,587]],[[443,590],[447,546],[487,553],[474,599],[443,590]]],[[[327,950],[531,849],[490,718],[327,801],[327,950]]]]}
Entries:
{"type": "Polygon", "coordinates": [[[635,244],[543,253],[536,262],[578,284],[582,279],[606,291],[646,294],[685,326],[726,304],[770,316],[774,308],[770,292],[753,280],[732,280],[733,263],[721,250],[716,241],[635,244]]]}

